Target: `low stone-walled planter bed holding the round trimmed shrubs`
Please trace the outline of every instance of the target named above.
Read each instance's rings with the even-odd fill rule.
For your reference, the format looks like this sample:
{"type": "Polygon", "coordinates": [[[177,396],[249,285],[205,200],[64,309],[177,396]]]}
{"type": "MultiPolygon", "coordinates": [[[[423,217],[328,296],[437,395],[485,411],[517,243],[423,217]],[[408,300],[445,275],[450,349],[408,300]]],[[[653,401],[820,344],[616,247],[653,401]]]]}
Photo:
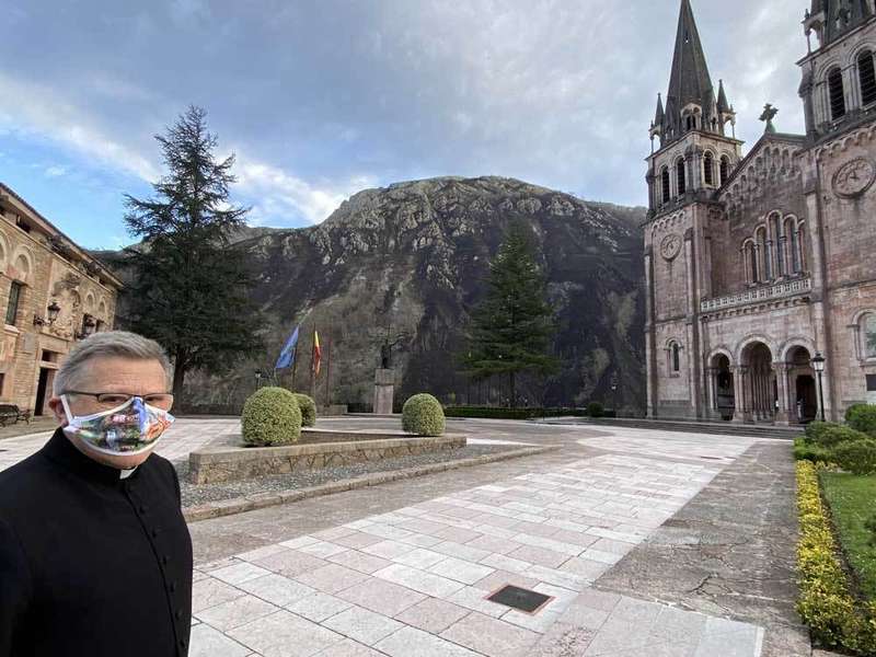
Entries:
{"type": "Polygon", "coordinates": [[[304,429],[301,440],[283,447],[205,447],[188,454],[194,484],[233,482],[270,474],[337,468],[465,447],[460,435],[420,438],[410,434],[367,434],[304,429]]]}

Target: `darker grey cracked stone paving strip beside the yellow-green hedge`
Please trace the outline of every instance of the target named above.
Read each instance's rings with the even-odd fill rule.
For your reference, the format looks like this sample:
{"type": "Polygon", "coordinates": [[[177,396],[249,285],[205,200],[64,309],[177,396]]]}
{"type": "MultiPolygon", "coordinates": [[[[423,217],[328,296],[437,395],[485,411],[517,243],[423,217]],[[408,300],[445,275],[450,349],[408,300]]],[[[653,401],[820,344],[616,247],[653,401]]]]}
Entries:
{"type": "Polygon", "coordinates": [[[808,656],[794,608],[794,491],[789,449],[758,442],[597,586],[764,626],[764,657],[808,656]]]}

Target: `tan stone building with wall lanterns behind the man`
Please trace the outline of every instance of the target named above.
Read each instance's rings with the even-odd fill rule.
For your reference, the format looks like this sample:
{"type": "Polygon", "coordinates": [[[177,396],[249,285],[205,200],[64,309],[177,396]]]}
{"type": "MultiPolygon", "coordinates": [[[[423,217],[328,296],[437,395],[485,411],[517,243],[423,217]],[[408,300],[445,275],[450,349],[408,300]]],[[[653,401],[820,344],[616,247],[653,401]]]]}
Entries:
{"type": "Polygon", "coordinates": [[[112,328],[122,281],[0,183],[0,404],[48,414],[73,342],[112,328]]]}

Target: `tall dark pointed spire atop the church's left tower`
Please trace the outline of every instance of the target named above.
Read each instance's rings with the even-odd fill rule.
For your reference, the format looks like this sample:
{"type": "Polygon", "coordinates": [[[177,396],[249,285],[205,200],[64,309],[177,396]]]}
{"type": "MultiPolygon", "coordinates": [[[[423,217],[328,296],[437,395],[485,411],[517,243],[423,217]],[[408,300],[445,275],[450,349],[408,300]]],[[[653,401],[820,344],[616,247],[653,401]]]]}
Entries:
{"type": "Polygon", "coordinates": [[[708,125],[707,115],[714,99],[712,78],[705,62],[703,45],[693,18],[690,0],[681,0],[678,18],[676,53],[672,59],[672,74],[669,79],[669,93],[666,95],[666,113],[675,124],[673,132],[681,135],[681,111],[690,103],[700,105],[703,111],[703,125],[708,125]]]}

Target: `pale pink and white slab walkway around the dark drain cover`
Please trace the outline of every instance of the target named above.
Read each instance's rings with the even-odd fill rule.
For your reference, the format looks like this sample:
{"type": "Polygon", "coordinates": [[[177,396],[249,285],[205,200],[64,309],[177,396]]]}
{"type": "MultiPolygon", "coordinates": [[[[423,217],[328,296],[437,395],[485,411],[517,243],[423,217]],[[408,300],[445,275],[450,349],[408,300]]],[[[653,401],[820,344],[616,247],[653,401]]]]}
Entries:
{"type": "MultiPolygon", "coordinates": [[[[733,634],[728,641],[740,646],[738,654],[757,657],[762,631],[753,625],[682,618],[690,612],[678,612],[682,616],[667,625],[658,623],[670,613],[664,606],[621,603],[621,596],[609,606],[593,597],[607,593],[591,588],[719,470],[627,454],[577,459],[199,563],[199,625],[265,657],[522,656],[545,650],[557,627],[573,626],[569,621],[578,632],[598,623],[588,630],[588,655],[634,654],[638,644],[615,636],[630,634],[621,629],[634,624],[647,626],[647,636],[677,627],[696,649],[733,634]],[[486,516],[508,521],[491,525],[486,516]],[[529,558],[491,550],[491,539],[511,541],[518,556],[529,558]],[[592,568],[586,576],[566,566],[585,561],[592,568]],[[485,599],[506,583],[552,599],[534,615],[485,599]],[[240,614],[249,622],[238,624],[233,610],[251,610],[240,614]],[[301,635],[293,648],[281,641],[291,636],[288,627],[301,635]]],[[[678,644],[667,632],[657,643],[678,644]]],[[[206,629],[201,635],[217,641],[206,629]]]]}

